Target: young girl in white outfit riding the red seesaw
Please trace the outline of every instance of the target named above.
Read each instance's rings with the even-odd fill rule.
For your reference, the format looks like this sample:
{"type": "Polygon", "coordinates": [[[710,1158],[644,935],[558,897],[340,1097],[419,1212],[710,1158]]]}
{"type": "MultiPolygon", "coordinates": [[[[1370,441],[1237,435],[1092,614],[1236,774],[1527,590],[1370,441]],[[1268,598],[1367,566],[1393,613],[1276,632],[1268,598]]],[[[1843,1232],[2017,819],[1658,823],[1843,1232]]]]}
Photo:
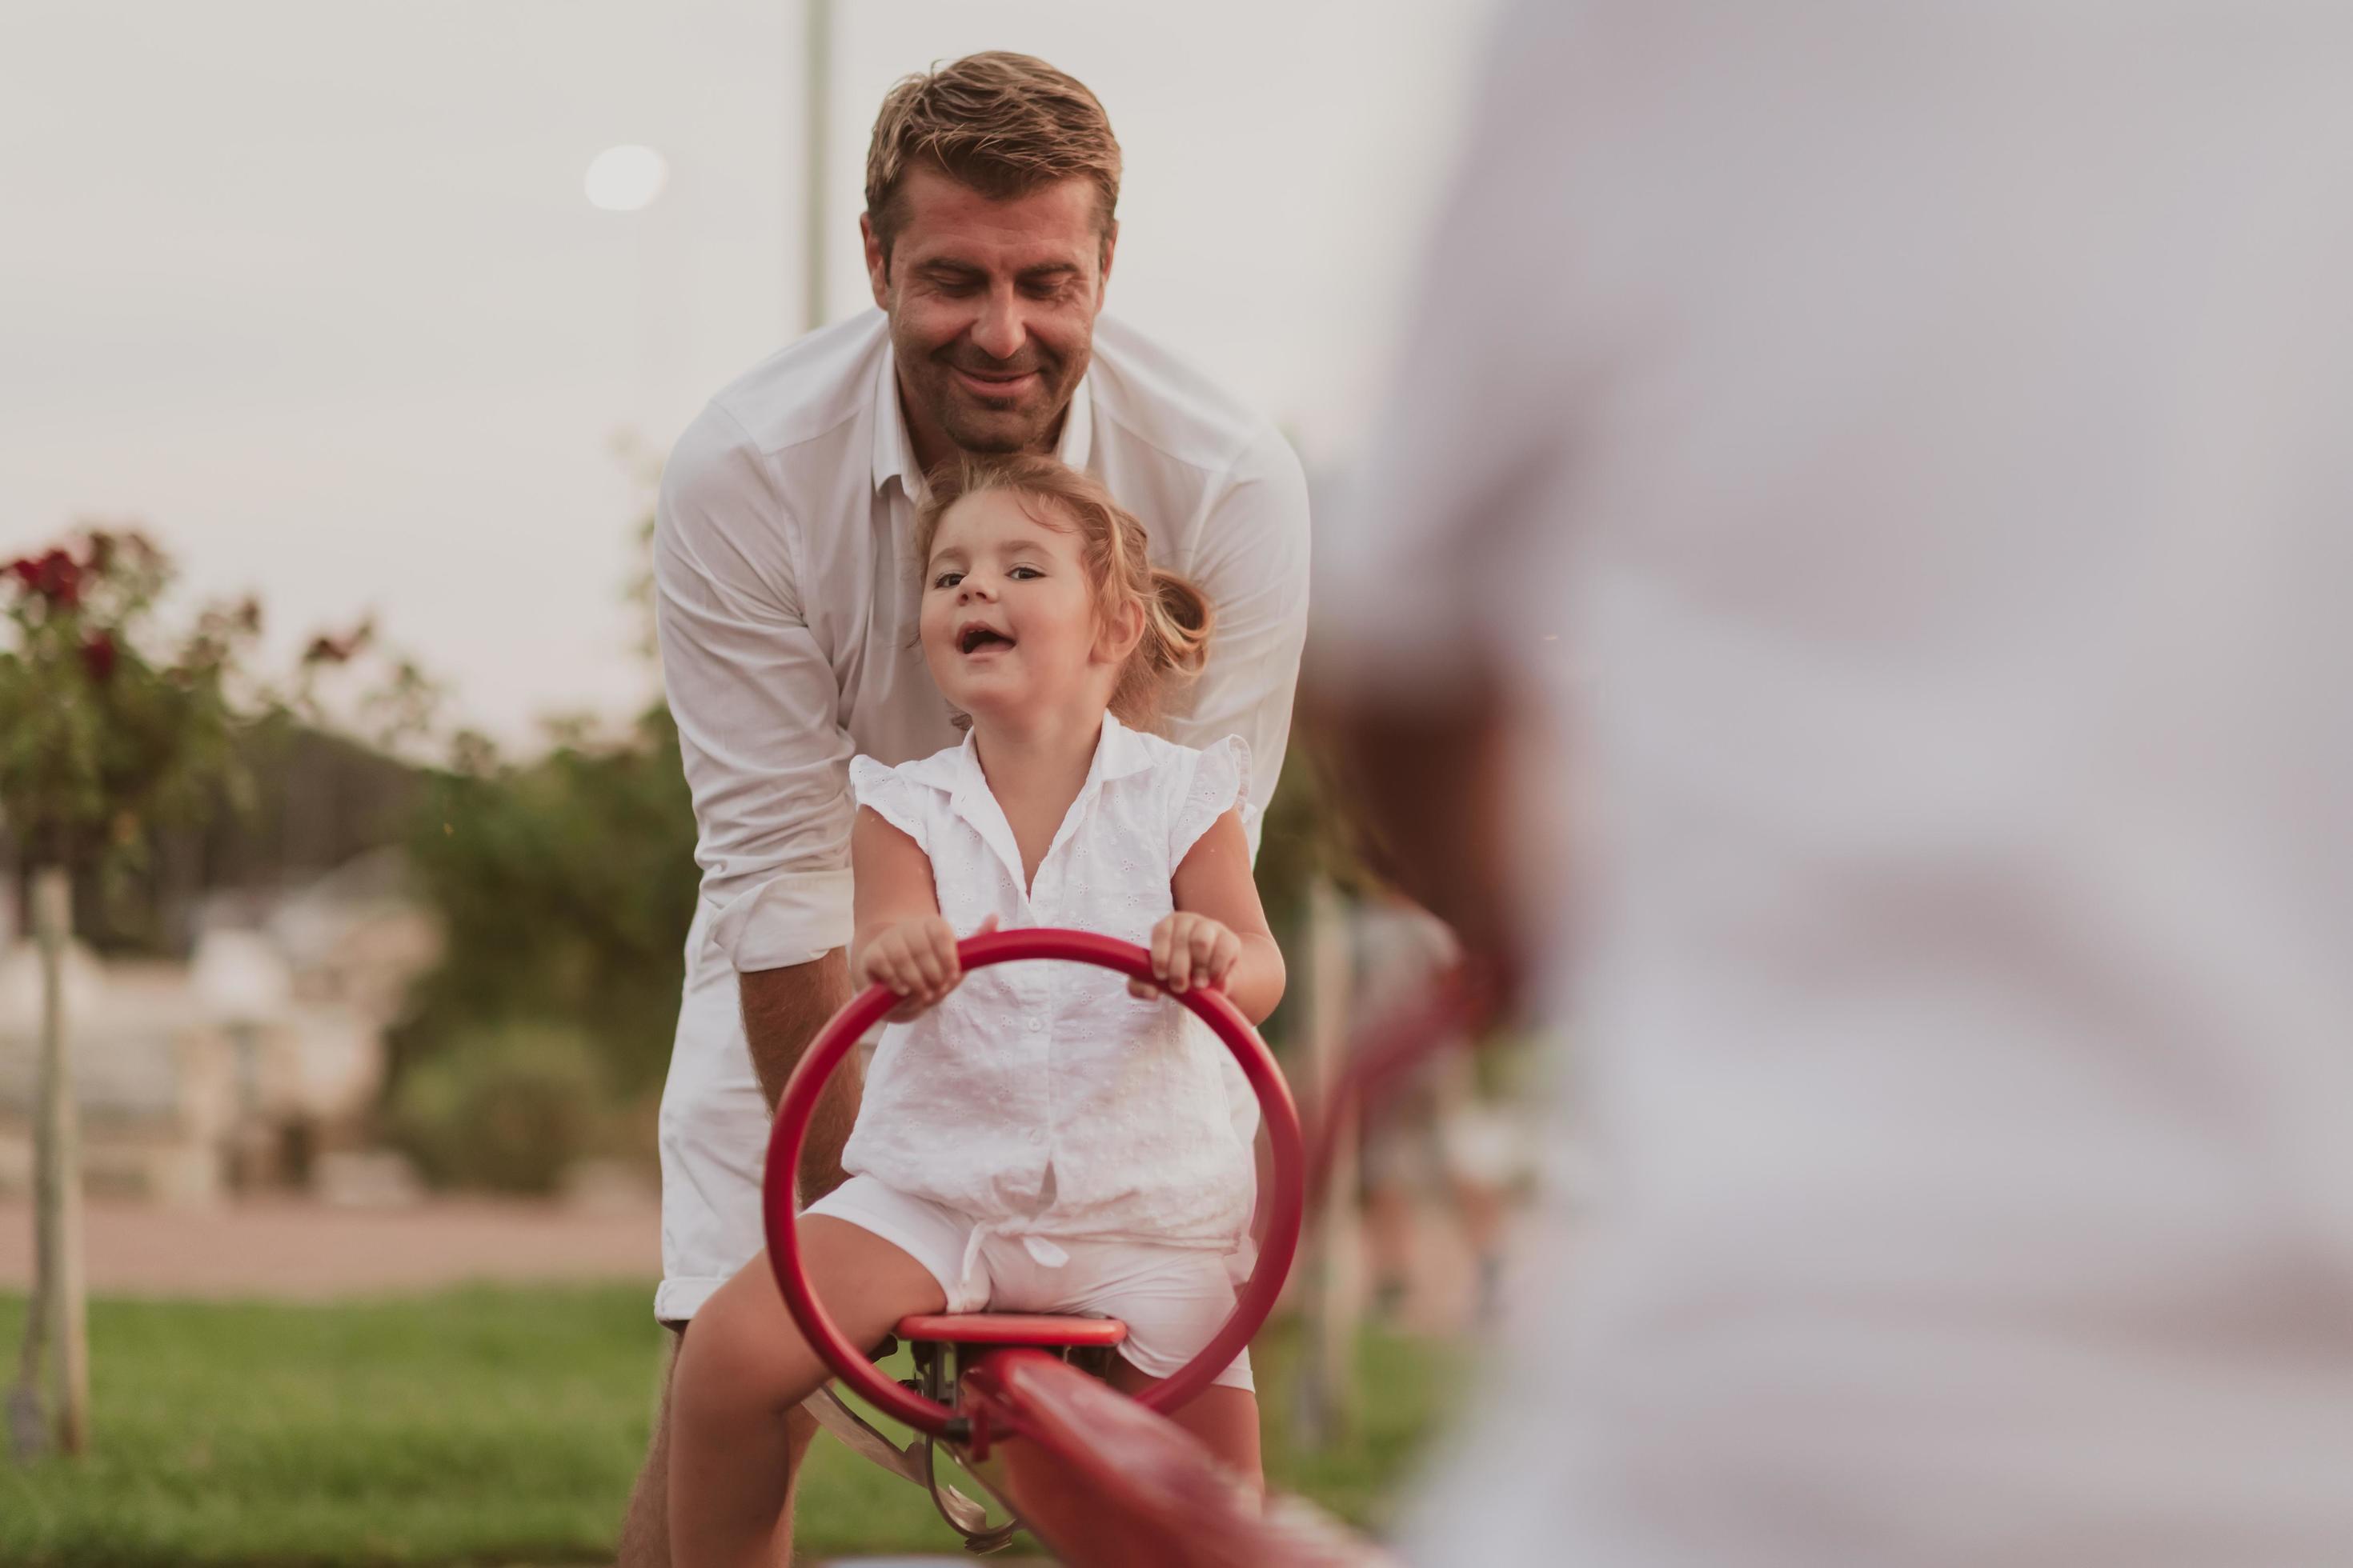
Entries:
{"type": "MultiPolygon", "coordinates": [[[[854,1342],[911,1312],[1118,1316],[1113,1382],[1141,1389],[1226,1321],[1249,1225],[1224,1046],[1158,999],[1217,985],[1259,1020],[1282,997],[1242,832],[1249,750],[1144,733],[1200,668],[1209,607],[1146,562],[1144,527],[1087,475],[967,461],[934,482],[918,559],[925,663],[972,731],[849,769],[849,973],[904,1001],[842,1150],[849,1180],[802,1215],[802,1251],[854,1342]],[[1073,964],[967,980],[955,938],[1000,924],[1146,945],[1158,985],[1073,964]]],[[[678,1563],[776,1561],[784,1415],[826,1378],[765,1253],[704,1305],[673,1389],[678,1563]]],[[[1257,1481],[1247,1354],[1176,1420],[1257,1481]]]]}

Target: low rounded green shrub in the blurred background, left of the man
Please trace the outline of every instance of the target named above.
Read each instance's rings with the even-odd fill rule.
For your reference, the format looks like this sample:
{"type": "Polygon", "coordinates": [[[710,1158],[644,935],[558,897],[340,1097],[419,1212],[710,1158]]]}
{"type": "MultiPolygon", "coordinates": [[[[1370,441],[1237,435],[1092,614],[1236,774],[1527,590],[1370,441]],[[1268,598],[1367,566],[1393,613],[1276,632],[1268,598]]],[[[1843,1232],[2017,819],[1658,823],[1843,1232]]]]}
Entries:
{"type": "Polygon", "coordinates": [[[393,1091],[393,1143],[440,1187],[555,1192],[607,1112],[591,1039],[560,1025],[471,1030],[393,1091]]]}

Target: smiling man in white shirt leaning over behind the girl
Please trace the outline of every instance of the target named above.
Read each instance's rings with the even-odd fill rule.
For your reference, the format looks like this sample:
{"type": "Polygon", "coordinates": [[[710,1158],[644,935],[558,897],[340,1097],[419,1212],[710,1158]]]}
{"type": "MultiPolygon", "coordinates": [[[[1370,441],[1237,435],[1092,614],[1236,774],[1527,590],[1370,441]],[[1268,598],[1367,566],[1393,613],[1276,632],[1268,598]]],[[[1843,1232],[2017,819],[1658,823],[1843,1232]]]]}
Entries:
{"type": "MultiPolygon", "coordinates": [[[[915,646],[927,473],[962,451],[1054,451],[1099,475],[1151,529],[1153,562],[1217,607],[1172,736],[1242,736],[1254,804],[1273,795],[1306,632],[1306,482],[1266,418],[1099,320],[1118,193],[1101,103],[1045,61],[974,54],[899,82],[859,219],[878,310],[722,390],[664,470],[661,661],[704,867],[661,1100],[654,1312],[680,1333],[760,1248],[769,1114],[849,997],[849,757],[958,738],[915,646]]],[[[856,1084],[833,1091],[802,1199],[842,1178],[856,1084]]],[[[666,1554],[666,1422],[628,1563],[666,1554]]]]}

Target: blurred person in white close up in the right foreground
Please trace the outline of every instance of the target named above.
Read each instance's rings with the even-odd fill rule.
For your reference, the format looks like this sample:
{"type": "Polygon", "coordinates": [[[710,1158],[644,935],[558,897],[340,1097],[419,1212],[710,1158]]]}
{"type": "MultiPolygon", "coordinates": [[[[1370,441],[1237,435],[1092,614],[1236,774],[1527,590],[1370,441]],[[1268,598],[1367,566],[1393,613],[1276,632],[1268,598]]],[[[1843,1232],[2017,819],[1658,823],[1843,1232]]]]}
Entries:
{"type": "Polygon", "coordinates": [[[1313,668],[1598,1185],[1412,1561],[2353,1561],[2346,277],[2346,7],[1508,16],[1313,668]]]}

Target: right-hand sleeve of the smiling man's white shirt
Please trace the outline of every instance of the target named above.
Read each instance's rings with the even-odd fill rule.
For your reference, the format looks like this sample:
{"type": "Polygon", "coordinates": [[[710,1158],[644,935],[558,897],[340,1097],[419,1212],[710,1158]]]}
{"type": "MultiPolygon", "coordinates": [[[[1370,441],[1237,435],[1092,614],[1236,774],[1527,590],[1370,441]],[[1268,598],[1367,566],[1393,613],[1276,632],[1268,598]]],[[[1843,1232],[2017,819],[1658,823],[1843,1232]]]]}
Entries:
{"type": "Polygon", "coordinates": [[[1308,482],[1299,454],[1268,425],[1209,498],[1191,576],[1217,607],[1209,665],[1172,738],[1207,748],[1240,736],[1254,759],[1249,842],[1275,797],[1292,733],[1299,651],[1308,635],[1308,482]]]}

